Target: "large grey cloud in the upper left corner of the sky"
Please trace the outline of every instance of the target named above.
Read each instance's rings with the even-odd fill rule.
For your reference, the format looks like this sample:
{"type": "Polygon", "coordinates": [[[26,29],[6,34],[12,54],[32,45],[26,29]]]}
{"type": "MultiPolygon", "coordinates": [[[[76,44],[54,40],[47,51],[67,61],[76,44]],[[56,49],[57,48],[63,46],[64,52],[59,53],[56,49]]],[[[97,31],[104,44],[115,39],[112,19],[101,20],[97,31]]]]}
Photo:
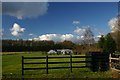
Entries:
{"type": "Polygon", "coordinates": [[[3,14],[18,19],[32,18],[44,15],[48,10],[47,2],[12,2],[3,3],[3,14]]]}

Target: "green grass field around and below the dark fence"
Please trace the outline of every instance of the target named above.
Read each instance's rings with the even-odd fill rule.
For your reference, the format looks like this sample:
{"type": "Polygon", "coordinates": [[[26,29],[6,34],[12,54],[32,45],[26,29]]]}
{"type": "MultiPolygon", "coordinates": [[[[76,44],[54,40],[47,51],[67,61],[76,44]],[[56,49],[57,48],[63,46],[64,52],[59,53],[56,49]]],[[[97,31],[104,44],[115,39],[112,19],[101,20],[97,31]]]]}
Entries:
{"type": "MultiPolygon", "coordinates": [[[[50,69],[49,74],[46,70],[31,70],[25,71],[25,76],[21,75],[21,56],[45,56],[44,53],[17,53],[17,54],[3,54],[2,55],[2,75],[3,78],[112,78],[111,71],[106,72],[92,72],[88,68],[73,69],[50,69]]],[[[68,55],[49,55],[49,56],[68,56],[68,55]]],[[[79,56],[79,55],[78,55],[79,56]]],[[[74,61],[84,61],[85,59],[73,59],[74,61]]],[[[33,62],[44,62],[45,60],[32,60],[33,62]]],[[[69,61],[69,59],[51,59],[50,61],[69,61]]],[[[73,66],[85,65],[83,63],[73,64],[73,66]]],[[[50,64],[54,66],[69,66],[69,64],[50,64]]],[[[25,67],[45,67],[44,64],[28,65],[25,67]]]]}

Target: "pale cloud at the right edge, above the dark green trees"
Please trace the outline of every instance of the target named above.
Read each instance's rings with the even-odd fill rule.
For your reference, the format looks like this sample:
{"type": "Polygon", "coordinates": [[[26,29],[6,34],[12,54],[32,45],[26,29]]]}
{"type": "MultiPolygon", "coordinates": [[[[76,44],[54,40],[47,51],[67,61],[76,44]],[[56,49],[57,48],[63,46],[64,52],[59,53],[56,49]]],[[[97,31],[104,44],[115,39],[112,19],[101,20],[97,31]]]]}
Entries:
{"type": "Polygon", "coordinates": [[[112,18],[108,25],[111,29],[111,32],[120,31],[120,26],[118,26],[118,18],[112,18]]]}

